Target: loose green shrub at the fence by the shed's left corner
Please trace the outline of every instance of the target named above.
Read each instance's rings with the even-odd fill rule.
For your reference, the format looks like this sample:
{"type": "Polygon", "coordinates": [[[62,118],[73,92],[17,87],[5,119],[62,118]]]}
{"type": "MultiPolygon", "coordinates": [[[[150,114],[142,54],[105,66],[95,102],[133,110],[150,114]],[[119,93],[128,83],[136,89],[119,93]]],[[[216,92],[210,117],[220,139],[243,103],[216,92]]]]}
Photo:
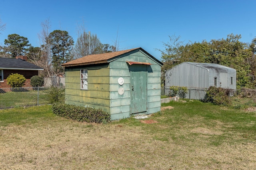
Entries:
{"type": "Polygon", "coordinates": [[[65,89],[62,87],[50,87],[47,94],[50,104],[64,101],[65,98],[65,89]]]}

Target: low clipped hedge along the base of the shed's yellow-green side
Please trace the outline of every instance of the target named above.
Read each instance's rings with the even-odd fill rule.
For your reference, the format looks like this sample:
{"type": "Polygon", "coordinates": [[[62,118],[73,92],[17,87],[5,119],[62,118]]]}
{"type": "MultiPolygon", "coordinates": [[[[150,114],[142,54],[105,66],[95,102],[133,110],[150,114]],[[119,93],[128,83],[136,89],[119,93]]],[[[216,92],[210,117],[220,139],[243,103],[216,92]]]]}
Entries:
{"type": "Polygon", "coordinates": [[[52,112],[56,115],[81,122],[106,123],[110,121],[110,114],[102,109],[54,103],[52,112]]]}

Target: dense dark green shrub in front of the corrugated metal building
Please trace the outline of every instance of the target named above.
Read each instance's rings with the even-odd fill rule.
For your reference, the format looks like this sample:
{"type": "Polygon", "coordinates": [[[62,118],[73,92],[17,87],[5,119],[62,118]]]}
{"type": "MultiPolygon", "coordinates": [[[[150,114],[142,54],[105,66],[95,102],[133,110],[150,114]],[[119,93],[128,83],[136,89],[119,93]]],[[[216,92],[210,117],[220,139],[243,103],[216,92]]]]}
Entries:
{"type": "Polygon", "coordinates": [[[230,100],[230,90],[221,87],[211,86],[206,90],[205,102],[210,102],[216,105],[228,106],[230,100]]]}

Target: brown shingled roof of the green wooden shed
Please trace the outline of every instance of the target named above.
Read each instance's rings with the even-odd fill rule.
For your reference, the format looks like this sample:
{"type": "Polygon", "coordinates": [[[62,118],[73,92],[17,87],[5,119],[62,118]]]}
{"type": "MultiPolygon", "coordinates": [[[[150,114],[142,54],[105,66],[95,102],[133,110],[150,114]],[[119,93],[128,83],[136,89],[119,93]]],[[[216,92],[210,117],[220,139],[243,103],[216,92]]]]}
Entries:
{"type": "MultiPolygon", "coordinates": [[[[123,51],[116,51],[111,53],[102,53],[102,54],[94,54],[94,55],[87,55],[85,57],[70,61],[68,63],[61,64],[62,66],[80,66],[80,65],[88,65],[88,64],[100,64],[100,63],[109,63],[110,59],[113,59],[114,57],[118,57],[120,55],[124,55],[126,53],[129,53],[131,51],[135,50],[142,50],[145,53],[147,53],[144,49],[141,47],[134,48],[134,49],[128,49],[123,51]]],[[[157,61],[160,65],[163,65],[160,61],[158,61],[156,58],[154,58],[152,55],[147,53],[150,57],[152,57],[155,61],[157,61]]]]}

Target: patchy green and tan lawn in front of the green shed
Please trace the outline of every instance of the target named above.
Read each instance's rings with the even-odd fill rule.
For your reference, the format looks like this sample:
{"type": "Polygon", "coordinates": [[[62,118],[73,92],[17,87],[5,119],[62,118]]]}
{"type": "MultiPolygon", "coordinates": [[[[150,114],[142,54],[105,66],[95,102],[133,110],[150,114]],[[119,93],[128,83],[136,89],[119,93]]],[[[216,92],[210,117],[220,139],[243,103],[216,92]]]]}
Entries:
{"type": "Polygon", "coordinates": [[[256,112],[196,100],[166,106],[152,124],[79,123],[48,105],[0,110],[0,169],[256,169],[256,112]]]}

